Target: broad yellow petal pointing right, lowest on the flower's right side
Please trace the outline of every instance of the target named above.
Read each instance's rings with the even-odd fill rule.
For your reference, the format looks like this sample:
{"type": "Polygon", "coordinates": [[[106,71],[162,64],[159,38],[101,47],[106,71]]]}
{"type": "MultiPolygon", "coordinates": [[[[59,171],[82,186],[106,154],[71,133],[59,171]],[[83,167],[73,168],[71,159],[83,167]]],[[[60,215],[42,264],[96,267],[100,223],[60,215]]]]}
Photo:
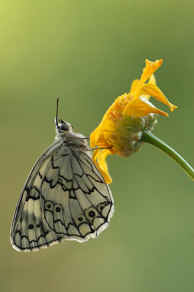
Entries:
{"type": "Polygon", "coordinates": [[[149,113],[157,113],[168,117],[166,112],[150,106],[148,103],[140,99],[131,100],[123,113],[135,117],[143,117],[149,113]]]}

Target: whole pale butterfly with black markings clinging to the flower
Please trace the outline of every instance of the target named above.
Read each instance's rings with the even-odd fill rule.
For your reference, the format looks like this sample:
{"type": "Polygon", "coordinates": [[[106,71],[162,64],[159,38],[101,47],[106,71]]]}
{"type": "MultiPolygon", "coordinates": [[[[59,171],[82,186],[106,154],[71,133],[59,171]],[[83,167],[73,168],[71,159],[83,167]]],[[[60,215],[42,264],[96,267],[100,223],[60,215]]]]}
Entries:
{"type": "Polygon", "coordinates": [[[16,205],[10,238],[19,252],[87,241],[113,216],[112,193],[92,161],[89,137],[57,115],[55,124],[55,142],[34,164],[16,205]]]}

